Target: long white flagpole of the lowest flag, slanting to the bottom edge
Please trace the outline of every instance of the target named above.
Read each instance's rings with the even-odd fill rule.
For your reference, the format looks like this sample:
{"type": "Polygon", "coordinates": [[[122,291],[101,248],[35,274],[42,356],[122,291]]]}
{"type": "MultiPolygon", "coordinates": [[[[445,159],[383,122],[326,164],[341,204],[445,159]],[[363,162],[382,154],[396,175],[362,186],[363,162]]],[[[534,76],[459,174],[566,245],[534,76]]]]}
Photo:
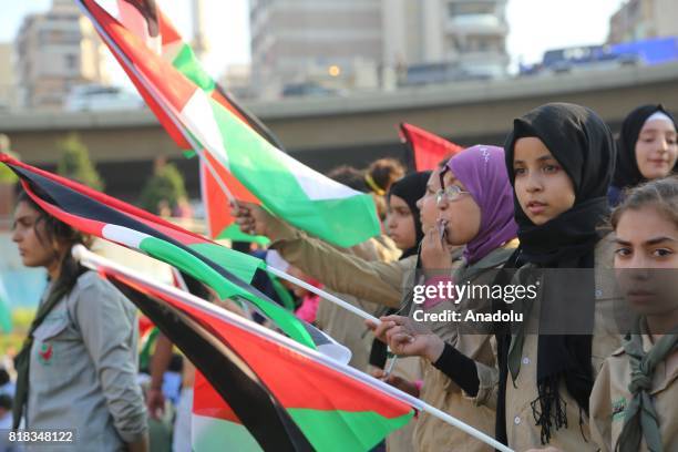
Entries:
{"type": "Polygon", "coordinates": [[[513,452],[512,449],[507,448],[506,445],[500,443],[499,441],[496,441],[495,439],[493,439],[492,436],[487,435],[484,432],[481,432],[480,430],[466,424],[465,422],[460,421],[459,419],[443,412],[442,410],[439,410],[435,407],[432,407],[428,403],[425,403],[424,401],[412,397],[410,394],[408,394],[407,392],[403,392],[401,390],[399,390],[398,388],[393,388],[390,384],[384,383],[381,380],[378,380],[358,369],[351,368],[348,364],[343,364],[341,362],[338,362],[336,360],[333,360],[330,357],[327,357],[322,353],[319,353],[316,350],[312,350],[308,347],[304,347],[300,343],[295,342],[294,340],[276,332],[273,330],[269,330],[260,325],[257,325],[250,320],[247,320],[243,317],[239,317],[217,305],[210,304],[208,301],[205,301],[201,298],[195,297],[192,294],[185,292],[183,290],[179,290],[175,287],[165,285],[165,284],[160,284],[156,282],[147,277],[144,277],[142,275],[138,274],[138,271],[134,271],[130,268],[126,268],[122,265],[119,265],[112,260],[109,260],[106,258],[103,258],[101,256],[95,255],[94,253],[90,251],[88,248],[85,248],[82,245],[75,245],[72,249],[72,254],[73,257],[75,258],[75,260],[79,260],[83,266],[92,268],[94,270],[106,270],[109,273],[112,274],[117,274],[117,275],[122,275],[127,279],[131,279],[133,281],[137,281],[137,282],[142,282],[145,284],[150,287],[152,287],[155,290],[158,290],[165,295],[168,295],[173,298],[179,299],[181,301],[185,302],[186,305],[199,309],[203,312],[209,314],[212,316],[218,317],[219,319],[237,327],[237,328],[242,328],[253,335],[256,335],[267,341],[270,342],[276,342],[276,343],[280,343],[289,349],[292,349],[294,351],[296,351],[297,353],[309,358],[314,361],[320,362],[331,369],[333,369],[337,372],[341,372],[345,376],[348,376],[350,378],[352,378],[353,380],[358,380],[373,389],[380,390],[382,392],[388,393],[389,396],[393,397],[394,399],[409,404],[410,407],[419,410],[419,411],[425,411],[429,414],[440,419],[443,422],[449,423],[450,425],[453,425],[460,430],[462,430],[463,432],[470,434],[473,438],[476,438],[477,440],[491,445],[492,448],[502,451],[502,452],[513,452]]]}

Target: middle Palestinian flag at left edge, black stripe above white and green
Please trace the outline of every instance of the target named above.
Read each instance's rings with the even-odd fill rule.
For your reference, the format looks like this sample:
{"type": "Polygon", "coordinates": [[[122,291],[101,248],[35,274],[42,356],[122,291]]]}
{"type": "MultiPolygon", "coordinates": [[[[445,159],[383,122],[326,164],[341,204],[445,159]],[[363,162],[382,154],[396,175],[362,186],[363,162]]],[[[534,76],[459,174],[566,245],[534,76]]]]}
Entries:
{"type": "Polygon", "coordinates": [[[7,154],[0,162],[50,215],[72,227],[165,261],[209,286],[222,298],[251,306],[290,338],[343,359],[350,352],[315,327],[296,318],[250,285],[266,263],[207,240],[145,210],[82,184],[35,168],[7,154]]]}

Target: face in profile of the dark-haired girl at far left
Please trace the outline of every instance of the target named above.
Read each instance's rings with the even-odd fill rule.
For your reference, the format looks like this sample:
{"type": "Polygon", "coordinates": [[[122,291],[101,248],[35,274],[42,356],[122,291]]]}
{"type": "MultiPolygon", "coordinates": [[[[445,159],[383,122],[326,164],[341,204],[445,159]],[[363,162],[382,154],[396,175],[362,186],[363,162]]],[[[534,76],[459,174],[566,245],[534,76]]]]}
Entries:
{"type": "Polygon", "coordinates": [[[45,233],[39,218],[40,213],[28,203],[17,205],[12,242],[17,244],[21,261],[27,267],[50,267],[56,260],[54,247],[44,239],[40,240],[45,233]]]}

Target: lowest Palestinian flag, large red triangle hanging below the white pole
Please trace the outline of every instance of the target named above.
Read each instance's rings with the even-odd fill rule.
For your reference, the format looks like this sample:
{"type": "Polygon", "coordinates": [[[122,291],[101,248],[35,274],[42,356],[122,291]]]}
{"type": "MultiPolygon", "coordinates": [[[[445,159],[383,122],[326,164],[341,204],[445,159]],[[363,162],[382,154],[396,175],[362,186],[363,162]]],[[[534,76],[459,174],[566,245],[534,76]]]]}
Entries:
{"type": "Polygon", "coordinates": [[[413,415],[390,387],[348,366],[173,287],[97,267],[204,376],[194,451],[369,451],[413,415]]]}

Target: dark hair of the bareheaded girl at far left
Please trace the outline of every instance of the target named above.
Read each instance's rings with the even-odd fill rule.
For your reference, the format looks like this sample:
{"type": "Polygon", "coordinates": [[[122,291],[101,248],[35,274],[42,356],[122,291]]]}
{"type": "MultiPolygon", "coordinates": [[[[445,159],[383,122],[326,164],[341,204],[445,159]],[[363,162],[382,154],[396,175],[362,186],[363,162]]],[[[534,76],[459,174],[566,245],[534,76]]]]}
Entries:
{"type": "MultiPolygon", "coordinates": [[[[32,209],[38,212],[39,216],[33,226],[35,228],[35,236],[41,245],[44,247],[52,247],[53,243],[60,243],[68,247],[70,250],[74,245],[81,244],[86,247],[91,244],[91,237],[82,234],[81,232],[72,228],[62,220],[44,212],[25,192],[20,192],[17,197],[17,205],[19,203],[28,204],[32,209]],[[42,226],[42,227],[39,227],[42,226]]],[[[54,249],[54,258],[58,258],[56,250],[54,249]]],[[[59,278],[54,281],[53,287],[64,284],[71,288],[75,284],[78,277],[82,274],[82,267],[79,263],[73,259],[71,253],[66,251],[61,257],[61,271],[59,278]]]]}

